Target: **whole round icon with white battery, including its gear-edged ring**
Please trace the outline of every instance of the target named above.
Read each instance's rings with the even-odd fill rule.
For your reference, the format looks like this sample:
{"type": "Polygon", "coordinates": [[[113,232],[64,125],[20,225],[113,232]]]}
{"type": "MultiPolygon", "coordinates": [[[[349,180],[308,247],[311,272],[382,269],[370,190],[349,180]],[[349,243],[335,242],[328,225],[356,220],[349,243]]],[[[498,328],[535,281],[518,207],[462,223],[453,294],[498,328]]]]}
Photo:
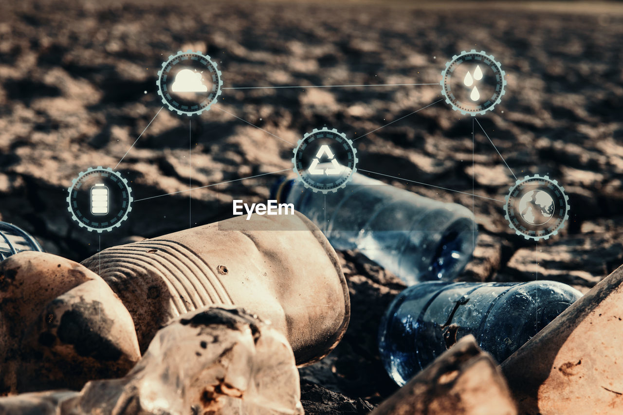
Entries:
{"type": "Polygon", "coordinates": [[[108,232],[128,218],[132,210],[128,181],[111,168],[88,168],[68,189],[67,210],[90,232],[108,232]]]}

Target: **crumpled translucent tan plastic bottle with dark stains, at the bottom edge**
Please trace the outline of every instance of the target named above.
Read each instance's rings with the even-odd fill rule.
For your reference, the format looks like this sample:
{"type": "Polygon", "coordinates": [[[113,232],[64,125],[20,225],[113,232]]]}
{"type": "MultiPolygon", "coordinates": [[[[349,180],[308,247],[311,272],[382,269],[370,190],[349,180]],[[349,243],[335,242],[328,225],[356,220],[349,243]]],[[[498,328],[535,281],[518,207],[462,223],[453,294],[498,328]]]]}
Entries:
{"type": "Polygon", "coordinates": [[[0,397],[0,415],[9,414],[303,415],[304,411],[297,366],[283,333],[245,310],[211,307],[178,317],[158,330],[125,376],[91,379],[80,392],[57,387],[0,397]]]}

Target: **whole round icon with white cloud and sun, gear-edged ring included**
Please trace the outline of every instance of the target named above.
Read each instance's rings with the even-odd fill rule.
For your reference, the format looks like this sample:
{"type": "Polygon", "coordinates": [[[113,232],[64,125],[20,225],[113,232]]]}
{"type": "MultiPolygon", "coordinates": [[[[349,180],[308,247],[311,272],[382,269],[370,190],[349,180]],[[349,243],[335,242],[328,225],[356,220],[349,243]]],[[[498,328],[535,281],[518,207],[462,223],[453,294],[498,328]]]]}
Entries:
{"type": "Polygon", "coordinates": [[[158,71],[158,95],[169,110],[179,115],[199,115],[221,95],[223,81],[208,55],[179,51],[169,56],[158,71]]]}

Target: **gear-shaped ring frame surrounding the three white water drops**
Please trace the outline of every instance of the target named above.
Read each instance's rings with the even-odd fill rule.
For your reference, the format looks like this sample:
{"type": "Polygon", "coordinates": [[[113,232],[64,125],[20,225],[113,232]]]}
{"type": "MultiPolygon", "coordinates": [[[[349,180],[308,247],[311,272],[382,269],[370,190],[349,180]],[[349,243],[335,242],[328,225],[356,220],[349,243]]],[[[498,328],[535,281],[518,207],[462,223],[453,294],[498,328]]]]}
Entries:
{"type": "Polygon", "coordinates": [[[477,50],[472,49],[469,52],[464,50],[459,55],[454,55],[452,59],[450,59],[447,64],[445,64],[445,69],[441,72],[441,80],[439,81],[439,85],[441,85],[441,93],[445,97],[445,102],[449,103],[452,106],[452,109],[455,111],[459,111],[462,115],[472,115],[475,117],[476,115],[485,115],[487,111],[493,111],[496,105],[502,102],[502,97],[506,93],[506,72],[502,70],[502,65],[500,62],[495,60],[495,57],[492,55],[488,55],[487,52],[481,50],[477,52],[477,50]],[[454,72],[454,67],[459,62],[467,62],[467,61],[480,61],[483,64],[487,65],[493,70],[496,79],[495,85],[495,95],[496,98],[491,102],[491,100],[487,100],[478,107],[482,107],[478,110],[469,110],[465,107],[460,107],[457,103],[457,98],[452,93],[452,89],[450,88],[450,77],[452,76],[452,72],[454,72]]]}

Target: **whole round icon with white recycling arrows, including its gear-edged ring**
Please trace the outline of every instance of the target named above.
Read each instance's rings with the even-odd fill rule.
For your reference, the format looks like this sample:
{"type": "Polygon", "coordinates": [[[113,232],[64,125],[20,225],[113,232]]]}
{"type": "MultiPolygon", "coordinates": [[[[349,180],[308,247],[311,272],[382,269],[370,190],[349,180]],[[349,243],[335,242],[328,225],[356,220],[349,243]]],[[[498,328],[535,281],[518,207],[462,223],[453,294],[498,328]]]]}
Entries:
{"type": "Polygon", "coordinates": [[[336,192],[346,186],[357,170],[353,141],[335,128],[315,128],[298,140],[293,152],[297,178],[315,192],[336,192]]]}

